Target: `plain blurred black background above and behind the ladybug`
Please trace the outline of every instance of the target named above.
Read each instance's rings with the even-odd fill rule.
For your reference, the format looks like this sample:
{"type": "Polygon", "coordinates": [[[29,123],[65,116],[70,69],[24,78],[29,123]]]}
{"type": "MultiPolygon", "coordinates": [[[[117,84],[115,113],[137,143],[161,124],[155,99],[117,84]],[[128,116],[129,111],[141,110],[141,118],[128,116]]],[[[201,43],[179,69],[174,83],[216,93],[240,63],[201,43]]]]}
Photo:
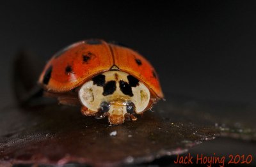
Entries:
{"type": "Polygon", "coordinates": [[[13,102],[12,61],[20,49],[46,62],[88,38],[138,50],[155,66],[167,98],[254,103],[255,7],[255,1],[1,2],[1,105],[13,102]]]}

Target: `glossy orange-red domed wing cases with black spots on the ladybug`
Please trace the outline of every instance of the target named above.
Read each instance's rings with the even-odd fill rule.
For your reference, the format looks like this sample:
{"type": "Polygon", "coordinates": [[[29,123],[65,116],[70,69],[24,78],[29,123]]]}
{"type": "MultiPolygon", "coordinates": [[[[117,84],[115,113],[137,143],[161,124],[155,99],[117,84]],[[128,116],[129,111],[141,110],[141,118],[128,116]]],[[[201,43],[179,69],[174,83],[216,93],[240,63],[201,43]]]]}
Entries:
{"type": "Polygon", "coordinates": [[[163,98],[156,71],[147,59],[130,48],[103,40],[79,41],[55,54],[40,75],[39,83],[49,92],[68,92],[111,69],[135,76],[152,94],[163,98]]]}

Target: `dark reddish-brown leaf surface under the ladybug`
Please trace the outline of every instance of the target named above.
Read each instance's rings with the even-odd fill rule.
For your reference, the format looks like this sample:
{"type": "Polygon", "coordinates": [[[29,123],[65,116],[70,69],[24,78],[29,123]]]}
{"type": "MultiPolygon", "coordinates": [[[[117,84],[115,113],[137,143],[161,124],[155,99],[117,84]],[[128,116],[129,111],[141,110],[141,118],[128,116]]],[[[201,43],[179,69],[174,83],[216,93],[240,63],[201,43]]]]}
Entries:
{"type": "Polygon", "coordinates": [[[59,105],[13,107],[0,117],[0,129],[4,129],[0,132],[0,159],[14,164],[145,163],[181,154],[220,133],[213,125],[196,123],[172,109],[146,112],[119,126],[85,117],[79,108],[59,105]]]}

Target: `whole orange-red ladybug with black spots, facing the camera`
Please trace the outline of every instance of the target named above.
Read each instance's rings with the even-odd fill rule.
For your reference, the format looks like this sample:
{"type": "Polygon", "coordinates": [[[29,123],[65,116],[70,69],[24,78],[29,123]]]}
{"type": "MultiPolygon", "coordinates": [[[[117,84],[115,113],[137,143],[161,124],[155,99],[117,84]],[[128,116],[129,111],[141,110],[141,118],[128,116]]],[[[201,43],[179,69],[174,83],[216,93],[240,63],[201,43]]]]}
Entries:
{"type": "Polygon", "coordinates": [[[155,69],[131,48],[104,40],[74,43],[52,56],[38,83],[44,95],[110,124],[136,120],[163,92],[155,69]]]}

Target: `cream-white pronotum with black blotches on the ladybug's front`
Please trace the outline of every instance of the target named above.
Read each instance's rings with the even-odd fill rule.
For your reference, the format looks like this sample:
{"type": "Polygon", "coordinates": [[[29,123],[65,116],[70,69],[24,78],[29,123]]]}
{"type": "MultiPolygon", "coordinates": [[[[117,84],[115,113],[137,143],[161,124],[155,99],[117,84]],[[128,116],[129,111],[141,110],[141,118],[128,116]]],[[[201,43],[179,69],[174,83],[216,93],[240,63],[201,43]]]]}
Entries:
{"type": "Polygon", "coordinates": [[[139,80],[122,71],[106,71],[84,83],[79,90],[81,103],[92,112],[108,104],[111,114],[124,115],[127,104],[133,103],[134,112],[140,114],[147,108],[150,91],[139,80]]]}

